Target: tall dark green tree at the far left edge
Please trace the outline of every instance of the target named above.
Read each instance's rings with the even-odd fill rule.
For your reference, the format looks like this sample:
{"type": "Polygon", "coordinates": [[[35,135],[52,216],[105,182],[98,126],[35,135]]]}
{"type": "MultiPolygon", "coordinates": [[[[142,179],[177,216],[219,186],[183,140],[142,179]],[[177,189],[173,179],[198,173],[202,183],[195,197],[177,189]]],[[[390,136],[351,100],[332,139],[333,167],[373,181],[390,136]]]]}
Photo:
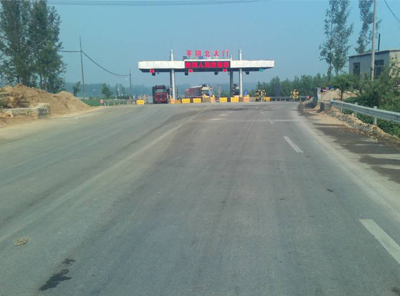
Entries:
{"type": "Polygon", "coordinates": [[[7,83],[34,86],[32,53],[27,45],[31,4],[25,0],[1,0],[0,75],[7,83]]]}

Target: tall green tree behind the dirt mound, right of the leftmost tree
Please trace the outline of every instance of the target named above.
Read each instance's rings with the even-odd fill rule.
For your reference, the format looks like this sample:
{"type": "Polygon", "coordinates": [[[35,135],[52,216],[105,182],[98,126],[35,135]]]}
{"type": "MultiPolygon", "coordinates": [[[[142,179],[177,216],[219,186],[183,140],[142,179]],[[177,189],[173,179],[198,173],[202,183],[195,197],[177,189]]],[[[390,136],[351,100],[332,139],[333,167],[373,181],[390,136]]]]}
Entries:
{"type": "Polygon", "coordinates": [[[32,4],[29,23],[28,45],[34,55],[34,72],[40,88],[56,93],[64,86],[66,66],[59,50],[60,16],[54,7],[47,6],[46,0],[37,0],[32,4]]]}

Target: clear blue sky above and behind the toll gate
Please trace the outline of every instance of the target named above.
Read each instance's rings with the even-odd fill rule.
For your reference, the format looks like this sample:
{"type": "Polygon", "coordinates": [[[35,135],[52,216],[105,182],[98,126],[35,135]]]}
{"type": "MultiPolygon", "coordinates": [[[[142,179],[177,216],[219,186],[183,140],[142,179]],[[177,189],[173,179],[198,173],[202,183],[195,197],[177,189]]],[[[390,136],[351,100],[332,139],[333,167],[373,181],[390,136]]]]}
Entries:
{"type": "MultiPolygon", "coordinates": [[[[390,1],[400,16],[400,1],[390,1]]],[[[104,67],[117,73],[132,68],[134,84],[168,84],[169,75],[155,77],[137,69],[139,60],[166,60],[174,49],[176,59],[187,49],[202,51],[228,49],[237,58],[239,48],[244,59],[273,59],[275,68],[244,76],[244,83],[268,81],[272,77],[293,78],[302,74],[324,73],[326,65],[319,60],[318,46],[323,41],[323,21],[328,1],[272,0],[261,3],[175,7],[103,7],[61,6],[61,39],[67,50],[83,49],[104,67]]],[[[350,21],[354,22],[351,45],[360,30],[358,1],[351,1],[350,21]]],[[[378,17],[382,19],[381,49],[400,48],[400,25],[382,0],[378,0],[378,17]]],[[[354,53],[352,48],[350,54],[354,53]]],[[[80,57],[65,54],[66,80],[80,80],[80,57]]],[[[87,59],[85,82],[122,83],[97,68],[87,59]]],[[[227,83],[229,76],[220,73],[177,74],[177,84],[206,82],[227,83]]],[[[235,77],[237,80],[237,77],[235,77]]]]}

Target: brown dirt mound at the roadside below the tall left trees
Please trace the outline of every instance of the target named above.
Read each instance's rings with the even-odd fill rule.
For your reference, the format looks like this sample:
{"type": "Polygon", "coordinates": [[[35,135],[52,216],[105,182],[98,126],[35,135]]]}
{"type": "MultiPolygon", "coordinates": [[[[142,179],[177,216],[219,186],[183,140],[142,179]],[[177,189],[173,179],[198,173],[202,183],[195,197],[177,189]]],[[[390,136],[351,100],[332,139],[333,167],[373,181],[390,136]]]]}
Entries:
{"type": "Polygon", "coordinates": [[[37,107],[39,104],[49,104],[51,115],[65,115],[90,109],[90,106],[65,91],[54,95],[21,84],[14,87],[5,86],[0,90],[1,105],[5,108],[37,107]]]}

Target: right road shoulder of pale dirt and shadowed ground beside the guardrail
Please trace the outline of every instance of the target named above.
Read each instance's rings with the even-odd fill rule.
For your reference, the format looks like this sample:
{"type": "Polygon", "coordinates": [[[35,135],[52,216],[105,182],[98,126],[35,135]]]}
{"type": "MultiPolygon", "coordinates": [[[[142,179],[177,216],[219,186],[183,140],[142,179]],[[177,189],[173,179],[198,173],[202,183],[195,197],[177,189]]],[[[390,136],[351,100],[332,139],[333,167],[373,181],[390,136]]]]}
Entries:
{"type": "Polygon", "coordinates": [[[338,163],[373,199],[392,209],[400,221],[400,153],[392,146],[361,134],[327,114],[307,112],[300,104],[303,128],[320,144],[326,157],[338,163]]]}

